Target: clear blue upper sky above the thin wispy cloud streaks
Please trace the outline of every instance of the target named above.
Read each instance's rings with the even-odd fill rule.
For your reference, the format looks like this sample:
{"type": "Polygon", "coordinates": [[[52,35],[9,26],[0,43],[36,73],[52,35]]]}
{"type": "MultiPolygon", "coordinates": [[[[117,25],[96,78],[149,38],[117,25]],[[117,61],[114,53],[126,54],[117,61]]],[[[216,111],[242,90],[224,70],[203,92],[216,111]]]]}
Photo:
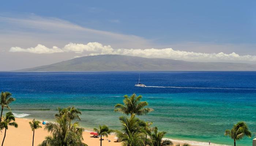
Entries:
{"type": "Polygon", "coordinates": [[[1,12],[55,17],[169,42],[255,43],[256,1],[3,1],[1,12]]]}

